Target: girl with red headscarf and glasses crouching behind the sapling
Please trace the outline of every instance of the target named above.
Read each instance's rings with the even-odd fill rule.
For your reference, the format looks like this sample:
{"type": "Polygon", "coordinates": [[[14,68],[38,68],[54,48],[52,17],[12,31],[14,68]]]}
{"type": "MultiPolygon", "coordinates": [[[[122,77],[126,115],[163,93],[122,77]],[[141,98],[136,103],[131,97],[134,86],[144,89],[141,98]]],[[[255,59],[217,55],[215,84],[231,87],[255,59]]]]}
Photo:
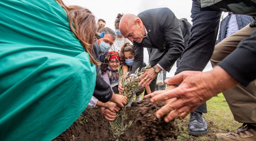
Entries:
{"type": "Polygon", "coordinates": [[[118,94],[118,71],[117,67],[121,63],[121,56],[117,51],[108,52],[104,63],[101,65],[102,78],[111,86],[111,90],[118,94]]]}

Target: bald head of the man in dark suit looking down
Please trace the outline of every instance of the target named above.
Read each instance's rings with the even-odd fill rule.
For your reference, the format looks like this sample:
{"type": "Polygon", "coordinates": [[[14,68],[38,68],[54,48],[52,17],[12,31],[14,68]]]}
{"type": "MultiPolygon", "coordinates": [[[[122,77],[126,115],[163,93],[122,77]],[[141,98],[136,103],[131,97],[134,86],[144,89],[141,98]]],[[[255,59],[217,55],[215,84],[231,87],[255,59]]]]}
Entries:
{"type": "Polygon", "coordinates": [[[134,14],[124,14],[119,29],[124,38],[128,38],[131,42],[141,43],[146,34],[143,22],[134,14]]]}

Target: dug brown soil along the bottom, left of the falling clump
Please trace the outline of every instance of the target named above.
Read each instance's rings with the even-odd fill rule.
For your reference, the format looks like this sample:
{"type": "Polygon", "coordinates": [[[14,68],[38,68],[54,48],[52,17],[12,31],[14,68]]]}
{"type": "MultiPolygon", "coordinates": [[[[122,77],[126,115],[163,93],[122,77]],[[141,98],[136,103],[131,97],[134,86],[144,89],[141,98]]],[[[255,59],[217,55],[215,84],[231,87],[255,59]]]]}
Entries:
{"type": "MultiPolygon", "coordinates": [[[[133,122],[136,119],[136,108],[126,108],[125,124],[128,124],[130,120],[133,122]]],[[[88,115],[81,115],[76,122],[69,127],[61,135],[53,139],[52,141],[116,141],[113,134],[109,130],[109,121],[100,115],[98,108],[87,110],[88,115]]],[[[119,141],[137,141],[139,134],[137,128],[133,123],[124,134],[120,136],[119,141]]]]}

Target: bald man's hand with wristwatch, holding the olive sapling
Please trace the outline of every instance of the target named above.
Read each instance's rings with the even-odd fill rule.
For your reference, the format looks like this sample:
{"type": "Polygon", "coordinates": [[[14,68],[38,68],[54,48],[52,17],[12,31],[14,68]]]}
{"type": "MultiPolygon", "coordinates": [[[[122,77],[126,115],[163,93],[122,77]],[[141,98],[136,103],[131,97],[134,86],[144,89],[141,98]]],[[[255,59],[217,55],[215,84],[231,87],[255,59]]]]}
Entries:
{"type": "MultiPolygon", "coordinates": [[[[161,71],[161,68],[158,67],[158,65],[156,65],[156,68],[159,69],[159,71],[161,71]]],[[[155,72],[154,68],[148,69],[148,71],[146,71],[139,79],[139,85],[141,85],[141,87],[144,86],[148,86],[152,80],[154,80],[157,76],[157,73],[155,72]]]]}

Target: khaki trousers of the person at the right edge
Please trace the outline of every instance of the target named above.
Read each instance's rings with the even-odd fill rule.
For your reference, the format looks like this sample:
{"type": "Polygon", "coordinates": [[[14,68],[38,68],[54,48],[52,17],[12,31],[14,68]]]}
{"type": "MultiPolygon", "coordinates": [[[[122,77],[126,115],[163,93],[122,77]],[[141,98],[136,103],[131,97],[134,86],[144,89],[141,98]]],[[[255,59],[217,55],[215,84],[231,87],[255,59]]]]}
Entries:
{"type": "MultiPolygon", "coordinates": [[[[226,56],[233,52],[238,43],[251,36],[255,28],[249,25],[236,33],[228,36],[215,45],[211,56],[212,67],[221,62],[226,56]]],[[[248,60],[250,61],[250,60],[248,60]]],[[[256,64],[255,64],[256,65],[256,64]]],[[[250,123],[256,126],[256,81],[252,81],[247,87],[237,85],[236,87],[223,92],[224,97],[230,107],[234,119],[240,123],[250,123]]]]}

